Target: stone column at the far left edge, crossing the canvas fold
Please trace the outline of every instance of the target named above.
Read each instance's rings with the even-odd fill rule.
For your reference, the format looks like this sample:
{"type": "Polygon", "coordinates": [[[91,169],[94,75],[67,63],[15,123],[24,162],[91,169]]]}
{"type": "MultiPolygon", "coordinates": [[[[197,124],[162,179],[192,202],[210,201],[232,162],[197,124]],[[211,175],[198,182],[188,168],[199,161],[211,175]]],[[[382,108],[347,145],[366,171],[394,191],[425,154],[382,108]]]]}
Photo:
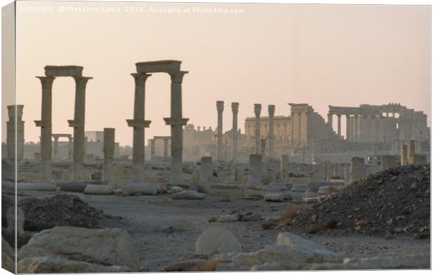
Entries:
{"type": "Polygon", "coordinates": [[[8,106],[9,121],[6,122],[6,146],[9,160],[15,160],[15,144],[17,160],[22,160],[24,157],[24,121],[22,121],[22,108],[24,108],[24,105],[8,106]]]}

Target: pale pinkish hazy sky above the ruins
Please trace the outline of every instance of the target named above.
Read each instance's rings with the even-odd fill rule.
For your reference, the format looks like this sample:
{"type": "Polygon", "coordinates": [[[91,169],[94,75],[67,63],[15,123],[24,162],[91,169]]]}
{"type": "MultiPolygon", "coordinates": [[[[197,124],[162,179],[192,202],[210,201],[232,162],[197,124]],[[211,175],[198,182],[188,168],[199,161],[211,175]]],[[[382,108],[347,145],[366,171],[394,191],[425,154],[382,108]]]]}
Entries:
{"type": "MultiPolygon", "coordinates": [[[[36,141],[40,134],[33,122],[41,118],[35,76],[43,76],[46,65],[84,66],[83,75],[94,78],[86,90],[86,131],[115,127],[121,145],[131,144],[133,136],[126,122],[133,118],[130,73],[135,62],[159,59],[181,60],[182,70],[189,71],[182,85],[183,116],[195,126],[216,127],[217,100],[225,101],[224,131],[232,127],[232,101],[240,102],[242,132],[254,103],[263,104],[262,115],[267,104],[276,105],[276,115],[289,115],[289,102],[308,103],[323,118],[328,105],[389,102],[430,115],[429,23],[429,6],[20,1],[17,88],[18,104],[25,105],[25,140],[36,141]],[[147,12],[136,12],[140,7],[147,12]],[[181,12],[149,10],[163,7],[181,12]],[[197,7],[243,13],[198,13],[197,7]]],[[[148,78],[145,93],[146,119],[152,120],[146,139],[169,135],[163,122],[170,113],[168,75],[148,78]]],[[[67,120],[73,109],[74,80],[57,78],[53,133],[72,133],[67,120]]]]}

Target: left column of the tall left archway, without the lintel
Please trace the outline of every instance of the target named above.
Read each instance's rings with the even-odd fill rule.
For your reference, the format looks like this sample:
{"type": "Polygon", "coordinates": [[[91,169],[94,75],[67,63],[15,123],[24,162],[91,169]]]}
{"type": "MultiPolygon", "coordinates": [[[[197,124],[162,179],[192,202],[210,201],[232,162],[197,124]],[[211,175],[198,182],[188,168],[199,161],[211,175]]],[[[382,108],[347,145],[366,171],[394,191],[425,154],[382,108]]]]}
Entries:
{"type": "Polygon", "coordinates": [[[37,76],[42,85],[41,120],[35,120],[41,127],[41,181],[51,181],[51,87],[53,76],[37,76]]]}

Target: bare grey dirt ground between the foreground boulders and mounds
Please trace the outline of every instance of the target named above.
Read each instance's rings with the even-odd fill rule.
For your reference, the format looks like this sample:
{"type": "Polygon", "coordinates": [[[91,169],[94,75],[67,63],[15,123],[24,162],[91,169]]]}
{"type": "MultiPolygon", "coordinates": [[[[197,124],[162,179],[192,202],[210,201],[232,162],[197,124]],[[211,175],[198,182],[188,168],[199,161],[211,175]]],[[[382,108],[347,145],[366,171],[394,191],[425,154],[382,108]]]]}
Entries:
{"type": "MultiPolygon", "coordinates": [[[[233,232],[246,252],[272,245],[281,230],[262,230],[262,221],[210,223],[208,220],[232,211],[260,213],[262,218],[269,219],[279,216],[288,206],[294,206],[290,202],[243,199],[221,202],[220,197],[210,196],[203,200],[173,200],[170,195],[117,197],[72,194],[112,216],[104,221],[103,226],[128,231],[144,272],[156,272],[178,260],[194,258],[196,238],[211,226],[225,227],[233,232]]],[[[430,253],[429,239],[385,239],[333,234],[307,234],[302,237],[312,239],[351,259],[430,253]]]]}

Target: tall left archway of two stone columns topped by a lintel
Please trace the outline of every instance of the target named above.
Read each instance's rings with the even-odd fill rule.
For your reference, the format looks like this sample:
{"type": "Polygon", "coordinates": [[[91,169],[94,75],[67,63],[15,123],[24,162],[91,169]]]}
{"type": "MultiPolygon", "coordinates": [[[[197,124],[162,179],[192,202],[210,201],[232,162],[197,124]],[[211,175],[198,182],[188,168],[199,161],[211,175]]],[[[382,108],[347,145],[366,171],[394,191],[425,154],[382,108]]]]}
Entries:
{"type": "Polygon", "coordinates": [[[76,82],[74,101],[74,120],[68,120],[69,127],[74,127],[74,148],[72,179],[83,179],[83,155],[85,138],[85,102],[86,83],[91,77],[82,76],[82,66],[45,66],[45,76],[36,76],[41,80],[42,104],[41,120],[35,120],[36,127],[41,127],[41,181],[51,181],[51,108],[52,87],[56,77],[69,76],[76,82]]]}

